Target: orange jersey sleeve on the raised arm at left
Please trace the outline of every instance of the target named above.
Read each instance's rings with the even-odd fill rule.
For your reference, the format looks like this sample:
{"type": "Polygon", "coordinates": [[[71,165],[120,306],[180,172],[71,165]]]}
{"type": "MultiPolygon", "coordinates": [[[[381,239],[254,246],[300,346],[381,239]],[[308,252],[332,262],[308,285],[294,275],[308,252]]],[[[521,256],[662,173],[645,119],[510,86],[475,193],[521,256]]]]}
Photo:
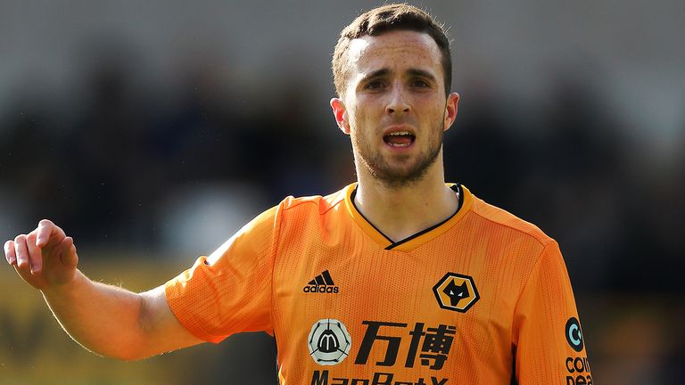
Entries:
{"type": "Polygon", "coordinates": [[[218,343],[237,332],[268,332],[278,207],[255,217],[209,257],[165,284],[171,312],[189,332],[218,343]]]}

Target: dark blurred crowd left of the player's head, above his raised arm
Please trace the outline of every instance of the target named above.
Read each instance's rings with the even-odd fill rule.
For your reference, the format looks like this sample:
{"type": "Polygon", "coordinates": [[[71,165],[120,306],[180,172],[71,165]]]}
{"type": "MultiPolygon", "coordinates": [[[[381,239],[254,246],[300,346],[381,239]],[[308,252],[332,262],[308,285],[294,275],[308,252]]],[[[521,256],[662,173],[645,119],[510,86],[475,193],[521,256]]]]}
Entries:
{"type": "Polygon", "coordinates": [[[177,217],[169,210],[194,194],[216,190],[211,199],[220,201],[238,189],[230,209],[246,211],[243,221],[286,194],[333,191],[354,176],[342,135],[342,145],[326,148],[317,131],[329,122],[311,127],[304,118],[302,86],[271,89],[279,102],[245,100],[197,69],[169,94],[136,84],[126,62],[110,59],[72,90],[82,102],[55,109],[59,101],[18,98],[0,117],[0,197],[12,206],[0,214],[3,235],[48,217],[81,244],[165,250],[173,242],[165,228],[182,225],[164,223],[177,217]]]}

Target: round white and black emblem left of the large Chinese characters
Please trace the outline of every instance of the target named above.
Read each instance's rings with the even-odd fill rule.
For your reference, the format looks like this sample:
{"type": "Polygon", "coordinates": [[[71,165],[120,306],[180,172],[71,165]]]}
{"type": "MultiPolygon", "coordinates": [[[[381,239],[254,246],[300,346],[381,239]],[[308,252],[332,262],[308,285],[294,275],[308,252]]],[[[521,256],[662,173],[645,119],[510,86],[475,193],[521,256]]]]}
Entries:
{"type": "Polygon", "coordinates": [[[345,324],[324,318],[311,326],[307,343],[309,356],[318,365],[338,365],[350,353],[352,339],[345,324]]]}

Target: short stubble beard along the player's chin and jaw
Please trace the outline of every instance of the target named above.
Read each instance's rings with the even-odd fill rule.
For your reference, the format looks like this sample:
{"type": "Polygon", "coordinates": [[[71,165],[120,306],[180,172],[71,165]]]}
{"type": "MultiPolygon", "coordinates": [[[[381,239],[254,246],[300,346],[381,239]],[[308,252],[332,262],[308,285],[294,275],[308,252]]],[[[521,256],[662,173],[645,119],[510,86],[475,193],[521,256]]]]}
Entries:
{"type": "MultiPolygon", "coordinates": [[[[393,166],[384,159],[381,152],[373,151],[369,143],[359,140],[359,137],[356,135],[353,137],[354,145],[352,146],[354,159],[361,167],[366,168],[371,176],[387,188],[397,189],[417,184],[425,177],[435,161],[438,160],[438,155],[442,151],[442,129],[436,131],[437,134],[433,135],[430,140],[430,146],[425,152],[417,155],[417,159],[414,160],[409,168],[404,167],[404,165],[400,167],[393,166]]],[[[404,160],[399,160],[398,162],[406,163],[412,161],[412,159],[413,157],[405,155],[404,160]]]]}

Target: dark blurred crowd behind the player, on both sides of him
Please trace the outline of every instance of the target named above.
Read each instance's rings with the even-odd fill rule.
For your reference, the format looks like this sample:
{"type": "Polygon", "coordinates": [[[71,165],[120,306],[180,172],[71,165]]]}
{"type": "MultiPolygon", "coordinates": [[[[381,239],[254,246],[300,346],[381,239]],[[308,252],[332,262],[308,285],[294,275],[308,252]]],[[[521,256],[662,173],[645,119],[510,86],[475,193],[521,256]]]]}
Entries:
{"type": "MultiPolygon", "coordinates": [[[[214,243],[188,250],[194,257],[287,195],[332,193],[354,181],[348,139],[332,117],[318,118],[327,100],[310,102],[307,79],[244,93],[199,66],[176,88],[155,88],[111,57],[83,76],[79,102],[19,93],[0,116],[3,238],[49,217],[78,244],[163,255],[225,225],[207,241],[214,243]],[[221,222],[232,210],[242,215],[221,222]]],[[[542,105],[516,111],[516,101],[487,86],[456,89],[447,179],[557,239],[581,313],[600,312],[607,295],[638,306],[620,320],[589,316],[598,329],[611,325],[611,334],[588,337],[590,353],[615,371],[606,376],[629,375],[608,358],[612,349],[647,347],[633,358],[648,365],[635,370],[651,382],[616,383],[682,379],[685,339],[664,331],[685,315],[685,154],[649,153],[592,86],[559,78],[542,105]]]]}

